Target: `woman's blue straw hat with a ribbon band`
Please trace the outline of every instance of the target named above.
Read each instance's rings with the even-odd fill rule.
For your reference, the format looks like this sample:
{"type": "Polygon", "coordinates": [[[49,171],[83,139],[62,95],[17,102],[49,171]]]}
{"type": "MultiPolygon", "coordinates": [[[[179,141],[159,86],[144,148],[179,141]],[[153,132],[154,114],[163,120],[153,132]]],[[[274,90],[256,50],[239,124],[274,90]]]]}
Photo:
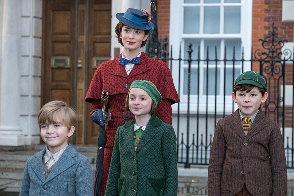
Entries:
{"type": "Polygon", "coordinates": [[[128,8],[126,13],[117,13],[116,18],[126,26],[139,30],[153,30],[154,24],[148,23],[148,16],[139,9],[128,8]]]}

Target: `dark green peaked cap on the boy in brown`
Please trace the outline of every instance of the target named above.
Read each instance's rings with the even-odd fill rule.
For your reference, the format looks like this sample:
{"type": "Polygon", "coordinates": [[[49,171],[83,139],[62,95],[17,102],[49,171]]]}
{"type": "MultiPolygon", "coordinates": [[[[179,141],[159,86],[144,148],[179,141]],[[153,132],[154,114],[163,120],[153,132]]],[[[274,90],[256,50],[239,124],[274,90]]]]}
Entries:
{"type": "Polygon", "coordinates": [[[245,71],[235,80],[234,88],[240,84],[251,84],[266,90],[264,78],[256,71],[245,71]]]}

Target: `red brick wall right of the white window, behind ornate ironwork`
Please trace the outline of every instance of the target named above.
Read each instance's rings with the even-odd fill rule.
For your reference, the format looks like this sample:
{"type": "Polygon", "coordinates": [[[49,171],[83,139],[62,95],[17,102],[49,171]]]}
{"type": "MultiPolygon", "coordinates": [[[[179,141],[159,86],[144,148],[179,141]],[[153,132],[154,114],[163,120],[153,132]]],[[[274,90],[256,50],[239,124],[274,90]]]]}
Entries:
{"type": "MultiPolygon", "coordinates": [[[[277,33],[279,37],[288,40],[288,42],[293,42],[293,22],[282,22],[282,0],[253,0],[253,9],[252,9],[252,48],[253,53],[254,51],[260,49],[262,51],[265,51],[268,53],[266,49],[263,48],[262,42],[258,41],[258,39],[264,39],[265,37],[269,36],[269,32],[272,31],[272,24],[274,22],[275,27],[277,28],[277,33]]],[[[280,52],[278,50],[277,52],[280,52]]],[[[282,57],[282,56],[280,56],[282,57]]],[[[278,63],[279,64],[279,63],[278,63]]],[[[268,64],[269,65],[269,64],[268,64]]],[[[270,65],[269,65],[270,66],[270,65]]],[[[281,67],[281,64],[279,64],[281,67]]],[[[292,84],[293,83],[293,65],[286,65],[285,67],[285,82],[286,84],[292,84]]],[[[253,70],[254,71],[260,71],[259,62],[253,63],[253,70]]],[[[274,74],[274,78],[267,77],[267,79],[270,79],[270,82],[268,82],[268,101],[275,101],[280,96],[277,94],[277,88],[280,88],[281,84],[283,83],[283,78],[280,79],[280,82],[278,84],[278,78],[281,76],[282,70],[280,70],[279,74],[274,74]],[[279,85],[279,87],[278,87],[279,85]]],[[[266,74],[265,74],[266,75],[266,74]]],[[[279,89],[279,93],[280,93],[279,89]]],[[[280,103],[277,103],[277,105],[282,105],[280,103]]],[[[269,105],[269,109],[274,110],[275,106],[274,104],[269,105]]],[[[279,110],[281,111],[282,108],[279,110]]],[[[273,113],[270,113],[269,115],[273,120],[277,119],[277,113],[276,111],[273,113]],[[274,115],[275,114],[275,115],[274,115]]],[[[285,107],[285,127],[291,127],[292,126],[292,120],[293,120],[293,111],[292,107],[285,107]]],[[[279,117],[279,123],[282,125],[282,118],[279,117]]]]}

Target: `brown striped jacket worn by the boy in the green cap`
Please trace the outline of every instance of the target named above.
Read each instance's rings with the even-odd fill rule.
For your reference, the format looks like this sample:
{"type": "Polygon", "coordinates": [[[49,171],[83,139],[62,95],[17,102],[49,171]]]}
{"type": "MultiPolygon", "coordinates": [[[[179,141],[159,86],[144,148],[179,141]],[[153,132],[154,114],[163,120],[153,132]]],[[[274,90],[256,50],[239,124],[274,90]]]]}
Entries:
{"type": "Polygon", "coordinates": [[[236,195],[244,183],[251,195],[286,195],[287,166],[279,125],[260,110],[245,136],[238,110],[216,125],[208,195],[236,195]]]}

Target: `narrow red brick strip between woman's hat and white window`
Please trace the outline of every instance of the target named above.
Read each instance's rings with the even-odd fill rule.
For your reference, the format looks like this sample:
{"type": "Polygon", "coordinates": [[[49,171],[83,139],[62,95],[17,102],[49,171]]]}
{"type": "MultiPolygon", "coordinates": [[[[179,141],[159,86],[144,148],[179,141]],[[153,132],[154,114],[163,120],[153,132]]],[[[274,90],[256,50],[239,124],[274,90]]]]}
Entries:
{"type": "Polygon", "coordinates": [[[164,37],[169,38],[169,14],[170,14],[170,0],[157,1],[157,26],[159,41],[164,37]]]}

